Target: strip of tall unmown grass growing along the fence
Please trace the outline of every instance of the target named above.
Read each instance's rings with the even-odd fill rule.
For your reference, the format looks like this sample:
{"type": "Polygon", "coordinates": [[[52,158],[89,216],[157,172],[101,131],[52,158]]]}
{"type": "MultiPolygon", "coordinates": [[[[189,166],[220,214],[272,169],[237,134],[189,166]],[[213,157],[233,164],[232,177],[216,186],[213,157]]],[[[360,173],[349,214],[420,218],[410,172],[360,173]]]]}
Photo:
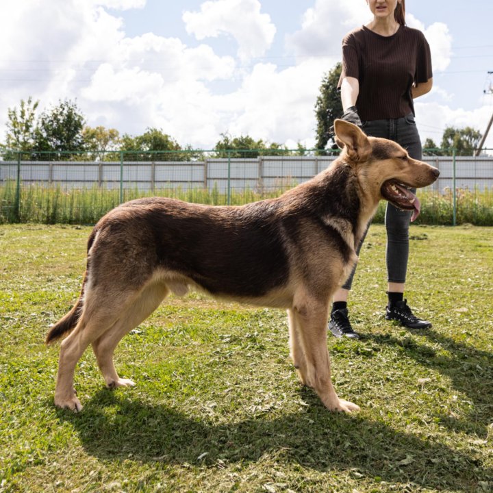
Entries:
{"type": "MultiPolygon", "coordinates": [[[[230,203],[241,205],[248,202],[277,197],[282,188],[293,183],[286,182],[279,190],[258,192],[255,190],[231,190],[230,203]]],[[[188,202],[211,205],[225,205],[227,194],[219,192],[217,185],[212,190],[201,188],[164,188],[142,192],[137,189],[123,190],[123,200],[129,201],[138,197],[161,195],[175,197],[188,202]]],[[[437,193],[430,190],[419,190],[418,197],[422,203],[418,224],[452,225],[453,194],[451,190],[437,193]]],[[[60,186],[45,187],[41,185],[22,186],[18,211],[16,207],[16,183],[8,181],[0,186],[0,224],[3,223],[42,223],[42,224],[84,224],[97,223],[99,218],[112,210],[120,202],[120,190],[99,188],[71,188],[64,190],[60,186]]],[[[456,224],[472,224],[477,226],[493,226],[493,190],[457,190],[456,224]]],[[[385,201],[379,204],[374,223],[383,223],[385,201]]]]}

